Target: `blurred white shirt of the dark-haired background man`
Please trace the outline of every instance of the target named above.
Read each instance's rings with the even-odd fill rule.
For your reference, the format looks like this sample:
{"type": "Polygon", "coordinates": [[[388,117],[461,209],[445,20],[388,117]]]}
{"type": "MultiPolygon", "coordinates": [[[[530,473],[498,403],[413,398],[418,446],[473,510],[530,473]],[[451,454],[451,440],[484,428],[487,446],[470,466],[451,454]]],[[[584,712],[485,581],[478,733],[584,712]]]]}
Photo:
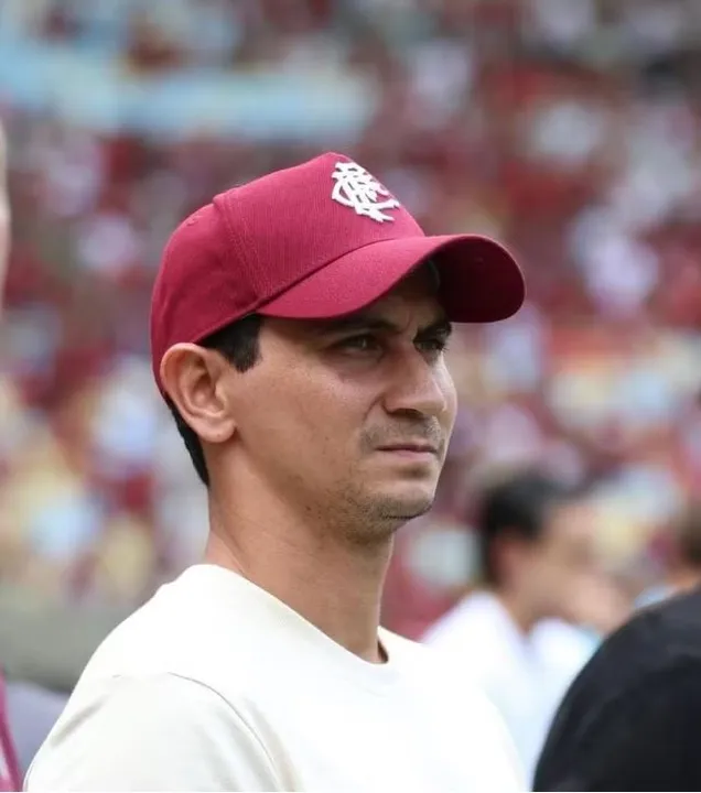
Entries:
{"type": "Polygon", "coordinates": [[[497,706],[532,779],[552,717],[594,641],[554,619],[525,634],[489,593],[465,597],[423,641],[457,660],[465,684],[477,684],[497,706]]]}

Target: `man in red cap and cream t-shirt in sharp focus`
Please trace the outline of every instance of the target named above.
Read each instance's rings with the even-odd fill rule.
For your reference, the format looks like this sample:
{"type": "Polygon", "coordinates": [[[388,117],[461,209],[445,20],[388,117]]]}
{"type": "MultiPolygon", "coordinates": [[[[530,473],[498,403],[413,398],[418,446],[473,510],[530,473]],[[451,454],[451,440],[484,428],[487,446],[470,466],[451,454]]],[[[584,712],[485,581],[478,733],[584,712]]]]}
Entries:
{"type": "Polygon", "coordinates": [[[521,789],[486,699],[378,615],[453,426],[450,322],[522,300],[500,246],[425,237],[338,154],[186,219],[152,355],[208,487],[204,564],[98,649],[28,789],[521,789]]]}

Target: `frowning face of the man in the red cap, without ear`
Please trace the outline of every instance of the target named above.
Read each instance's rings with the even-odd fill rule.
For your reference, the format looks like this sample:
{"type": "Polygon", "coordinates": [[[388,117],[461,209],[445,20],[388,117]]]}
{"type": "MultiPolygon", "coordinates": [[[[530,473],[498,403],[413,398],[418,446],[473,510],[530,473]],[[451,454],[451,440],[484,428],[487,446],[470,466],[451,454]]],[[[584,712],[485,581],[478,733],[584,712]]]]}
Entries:
{"type": "Polygon", "coordinates": [[[234,468],[357,543],[425,512],[455,420],[450,334],[421,271],[331,322],[266,319],[260,361],[231,372],[234,468]]]}

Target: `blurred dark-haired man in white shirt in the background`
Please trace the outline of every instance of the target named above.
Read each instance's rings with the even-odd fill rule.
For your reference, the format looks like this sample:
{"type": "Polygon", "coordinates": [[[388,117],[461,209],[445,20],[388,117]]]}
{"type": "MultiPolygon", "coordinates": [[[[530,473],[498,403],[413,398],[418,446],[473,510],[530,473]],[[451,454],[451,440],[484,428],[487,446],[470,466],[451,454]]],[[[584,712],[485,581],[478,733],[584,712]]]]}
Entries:
{"type": "Polygon", "coordinates": [[[594,649],[591,636],[565,621],[591,622],[601,608],[591,584],[592,521],[584,499],[527,470],[486,489],[476,530],[486,587],[424,641],[460,659],[465,677],[497,705],[532,774],[559,700],[594,649]]]}

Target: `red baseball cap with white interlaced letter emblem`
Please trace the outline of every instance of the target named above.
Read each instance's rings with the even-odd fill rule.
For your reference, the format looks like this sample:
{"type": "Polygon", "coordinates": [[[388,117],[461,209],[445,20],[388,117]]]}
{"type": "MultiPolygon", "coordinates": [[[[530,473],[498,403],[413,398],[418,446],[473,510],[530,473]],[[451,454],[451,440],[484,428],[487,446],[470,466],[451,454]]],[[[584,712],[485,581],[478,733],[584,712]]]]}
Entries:
{"type": "Polygon", "coordinates": [[[487,237],[427,237],[374,176],[333,152],[222,193],[165,247],[151,301],[153,371],[163,355],[248,314],[321,319],[381,297],[427,259],[453,322],[506,319],[524,276],[487,237]]]}

